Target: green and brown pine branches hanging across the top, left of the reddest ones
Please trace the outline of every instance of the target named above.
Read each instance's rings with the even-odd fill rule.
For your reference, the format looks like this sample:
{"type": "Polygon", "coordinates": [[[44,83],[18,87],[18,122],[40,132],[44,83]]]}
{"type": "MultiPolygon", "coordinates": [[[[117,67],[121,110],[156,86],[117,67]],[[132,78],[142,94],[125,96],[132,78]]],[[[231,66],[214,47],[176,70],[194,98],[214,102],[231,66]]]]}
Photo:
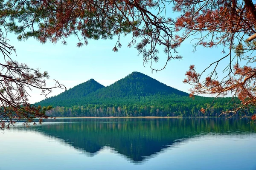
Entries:
{"type": "MultiPolygon", "coordinates": [[[[169,25],[173,20],[163,17],[165,1],[148,0],[8,0],[10,31],[18,40],[34,37],[42,43],[62,41],[75,35],[77,46],[88,44],[88,39],[118,37],[113,51],[121,44],[121,34],[132,34],[127,46],[135,45],[144,63],[158,61],[159,47],[167,54],[167,61],[180,59],[173,56],[177,44],[169,25]],[[14,10],[14,11],[12,11],[14,10]],[[154,12],[157,10],[157,14],[154,12]]],[[[166,61],[166,62],[167,62],[166,61]]]]}

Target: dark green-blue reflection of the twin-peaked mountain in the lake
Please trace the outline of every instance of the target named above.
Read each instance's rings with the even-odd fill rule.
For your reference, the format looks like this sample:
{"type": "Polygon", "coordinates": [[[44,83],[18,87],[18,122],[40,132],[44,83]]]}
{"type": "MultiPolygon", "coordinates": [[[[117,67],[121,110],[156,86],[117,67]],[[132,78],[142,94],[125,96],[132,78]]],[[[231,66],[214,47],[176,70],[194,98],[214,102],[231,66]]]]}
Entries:
{"type": "Polygon", "coordinates": [[[165,148],[208,133],[255,133],[249,119],[57,119],[31,127],[58,138],[88,156],[111,147],[134,162],[160,153],[165,148]]]}

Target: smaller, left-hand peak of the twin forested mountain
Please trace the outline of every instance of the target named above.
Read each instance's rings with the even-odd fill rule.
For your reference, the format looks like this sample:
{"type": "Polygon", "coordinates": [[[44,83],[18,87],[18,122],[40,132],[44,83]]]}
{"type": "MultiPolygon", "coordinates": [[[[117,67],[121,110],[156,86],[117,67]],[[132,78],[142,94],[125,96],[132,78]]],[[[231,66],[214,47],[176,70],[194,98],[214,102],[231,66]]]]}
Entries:
{"type": "Polygon", "coordinates": [[[49,97],[41,102],[35,103],[35,105],[65,105],[68,100],[80,99],[101,88],[104,88],[104,86],[99,84],[99,82],[96,82],[94,79],[90,79],[87,82],[83,82],[73,88],[68,89],[67,91],[62,92],[61,94],[58,94],[57,96],[49,97]]]}

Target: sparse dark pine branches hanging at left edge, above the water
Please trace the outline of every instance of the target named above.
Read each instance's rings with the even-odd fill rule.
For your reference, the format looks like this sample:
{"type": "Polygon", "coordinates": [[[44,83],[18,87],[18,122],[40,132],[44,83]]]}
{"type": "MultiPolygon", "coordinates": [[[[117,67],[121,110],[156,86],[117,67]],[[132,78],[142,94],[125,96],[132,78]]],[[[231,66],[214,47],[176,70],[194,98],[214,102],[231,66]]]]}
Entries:
{"type": "Polygon", "coordinates": [[[61,85],[56,81],[55,87],[45,87],[45,78],[49,78],[48,73],[41,73],[39,69],[29,68],[26,64],[10,60],[0,65],[0,130],[9,129],[10,125],[15,125],[20,119],[26,120],[25,126],[34,122],[35,118],[39,119],[39,123],[42,119],[47,119],[49,116],[45,112],[51,107],[31,105],[28,102],[27,90],[38,88],[46,96],[52,88],[61,88],[61,85]]]}

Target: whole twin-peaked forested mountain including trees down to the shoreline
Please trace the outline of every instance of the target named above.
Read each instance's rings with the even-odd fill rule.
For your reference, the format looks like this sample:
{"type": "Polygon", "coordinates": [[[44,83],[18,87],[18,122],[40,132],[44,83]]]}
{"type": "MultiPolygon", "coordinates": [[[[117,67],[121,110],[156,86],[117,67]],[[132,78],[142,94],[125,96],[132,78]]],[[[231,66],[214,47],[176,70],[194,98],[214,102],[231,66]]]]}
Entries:
{"type": "MultiPolygon", "coordinates": [[[[35,105],[52,105],[51,116],[203,116],[201,108],[214,98],[195,96],[167,86],[145,74],[133,72],[110,86],[93,79],[35,105]]],[[[231,98],[219,98],[206,116],[218,116],[233,107],[231,98]]],[[[245,113],[249,116],[255,111],[245,113]]],[[[239,113],[238,115],[244,115],[239,113]]]]}

